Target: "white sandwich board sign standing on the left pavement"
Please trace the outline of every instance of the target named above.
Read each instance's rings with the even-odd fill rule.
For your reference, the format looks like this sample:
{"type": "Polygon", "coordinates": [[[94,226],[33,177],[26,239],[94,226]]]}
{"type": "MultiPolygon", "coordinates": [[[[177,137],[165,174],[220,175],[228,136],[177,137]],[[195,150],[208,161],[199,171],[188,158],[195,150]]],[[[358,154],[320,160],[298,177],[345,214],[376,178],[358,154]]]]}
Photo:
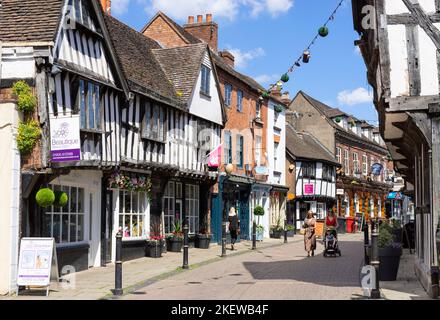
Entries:
{"type": "Polygon", "coordinates": [[[22,238],[17,274],[19,286],[46,287],[49,295],[50,280],[59,280],[54,238],[22,238]]]}

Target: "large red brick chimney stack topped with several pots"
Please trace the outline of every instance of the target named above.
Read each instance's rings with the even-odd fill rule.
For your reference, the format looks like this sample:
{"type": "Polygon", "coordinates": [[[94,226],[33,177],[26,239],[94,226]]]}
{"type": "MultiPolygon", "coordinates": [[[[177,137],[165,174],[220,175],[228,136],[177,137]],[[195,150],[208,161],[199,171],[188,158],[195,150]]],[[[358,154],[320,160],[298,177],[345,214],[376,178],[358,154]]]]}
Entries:
{"type": "Polygon", "coordinates": [[[203,15],[197,15],[196,23],[193,16],[188,17],[188,23],[183,28],[194,37],[206,42],[214,52],[218,51],[218,25],[213,22],[211,13],[206,14],[206,21],[203,21],[203,15]]]}

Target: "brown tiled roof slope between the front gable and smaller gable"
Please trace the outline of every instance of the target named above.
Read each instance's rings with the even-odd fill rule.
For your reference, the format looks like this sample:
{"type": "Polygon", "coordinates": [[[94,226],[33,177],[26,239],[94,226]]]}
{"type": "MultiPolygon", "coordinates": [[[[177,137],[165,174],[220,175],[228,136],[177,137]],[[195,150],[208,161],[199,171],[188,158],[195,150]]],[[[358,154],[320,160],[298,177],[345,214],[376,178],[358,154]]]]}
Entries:
{"type": "Polygon", "coordinates": [[[160,45],[109,15],[105,15],[105,22],[130,89],[140,86],[178,103],[176,91],[152,53],[160,45]]]}

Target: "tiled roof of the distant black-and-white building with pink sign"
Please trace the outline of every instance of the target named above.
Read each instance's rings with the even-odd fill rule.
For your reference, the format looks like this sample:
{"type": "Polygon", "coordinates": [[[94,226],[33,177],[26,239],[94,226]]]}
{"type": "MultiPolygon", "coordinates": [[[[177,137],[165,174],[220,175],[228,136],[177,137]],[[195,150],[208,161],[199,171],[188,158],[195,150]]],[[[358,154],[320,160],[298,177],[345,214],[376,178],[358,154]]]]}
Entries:
{"type": "Polygon", "coordinates": [[[290,124],[286,125],[286,149],[298,159],[320,160],[338,164],[333,154],[314,136],[297,132],[290,124]]]}

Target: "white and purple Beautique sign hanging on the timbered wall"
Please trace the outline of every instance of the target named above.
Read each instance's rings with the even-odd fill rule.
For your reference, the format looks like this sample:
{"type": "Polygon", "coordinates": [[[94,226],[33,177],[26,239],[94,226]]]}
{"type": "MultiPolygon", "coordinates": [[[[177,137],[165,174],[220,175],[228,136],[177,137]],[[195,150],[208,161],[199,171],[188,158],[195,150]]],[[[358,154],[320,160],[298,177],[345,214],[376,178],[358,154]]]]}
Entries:
{"type": "Polygon", "coordinates": [[[79,115],[50,119],[52,162],[81,160],[79,115]]]}

